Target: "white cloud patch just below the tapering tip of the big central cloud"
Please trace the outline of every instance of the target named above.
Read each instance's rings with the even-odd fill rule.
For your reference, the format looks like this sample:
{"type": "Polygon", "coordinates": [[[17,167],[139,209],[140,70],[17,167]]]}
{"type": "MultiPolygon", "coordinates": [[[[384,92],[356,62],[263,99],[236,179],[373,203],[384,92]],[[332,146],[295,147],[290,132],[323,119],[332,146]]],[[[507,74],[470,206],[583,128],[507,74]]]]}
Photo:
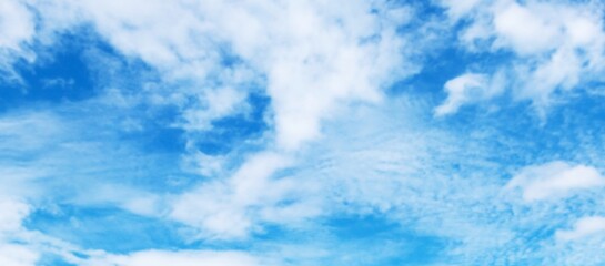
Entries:
{"type": "Polygon", "coordinates": [[[290,176],[274,178],[276,172],[291,165],[284,154],[254,154],[229,178],[210,181],[177,196],[169,217],[201,229],[201,236],[193,238],[225,239],[248,237],[256,223],[292,222],[296,216],[314,215],[309,206],[278,206],[282,200],[298,196],[303,184],[292,182],[290,176]],[[289,213],[291,209],[299,213],[289,213]],[[284,216],[275,217],[275,213],[284,216]]]}

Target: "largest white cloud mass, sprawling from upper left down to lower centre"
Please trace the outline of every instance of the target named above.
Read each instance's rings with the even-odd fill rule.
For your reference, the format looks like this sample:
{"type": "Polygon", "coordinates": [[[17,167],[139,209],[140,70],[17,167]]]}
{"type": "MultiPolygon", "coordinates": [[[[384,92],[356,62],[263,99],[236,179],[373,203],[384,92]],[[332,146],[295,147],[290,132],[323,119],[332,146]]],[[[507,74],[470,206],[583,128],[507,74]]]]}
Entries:
{"type": "Polygon", "coordinates": [[[253,155],[226,178],[229,171],[219,170],[222,160],[200,156],[208,164],[198,171],[214,181],[175,200],[172,218],[214,237],[245,236],[256,219],[316,213],[296,204],[278,207],[295,185],[273,174],[290,165],[284,163],[290,152],[322,134],[322,121],[350,103],[381,101],[385,86],[416,70],[412,62],[401,66],[413,49],[397,32],[413,10],[380,1],[34,2],[41,3],[32,7],[43,29],[90,23],[119,52],[159,70],[164,81],[191,82],[151,98],[179,105],[184,122],[178,125],[188,131],[209,130],[212,120],[241,111],[246,86],[266,85],[275,133],[270,146],[281,152],[253,155]],[[241,63],[225,68],[221,53],[241,63]]]}

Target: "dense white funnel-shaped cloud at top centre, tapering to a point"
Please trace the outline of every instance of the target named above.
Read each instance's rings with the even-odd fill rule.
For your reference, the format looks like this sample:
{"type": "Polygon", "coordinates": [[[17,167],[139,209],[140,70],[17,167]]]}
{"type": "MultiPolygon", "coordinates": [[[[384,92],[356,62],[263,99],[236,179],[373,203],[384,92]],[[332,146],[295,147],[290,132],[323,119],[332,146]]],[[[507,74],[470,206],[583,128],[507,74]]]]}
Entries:
{"type": "Polygon", "coordinates": [[[294,1],[269,14],[270,20],[235,16],[243,21],[230,25],[238,37],[234,50],[268,74],[278,143],[285,149],[316,137],[321,119],[339,103],[377,101],[381,88],[409,74],[399,66],[406,43],[395,30],[407,22],[410,10],[371,2],[345,6],[294,1]],[[241,24],[253,25],[245,30],[262,41],[236,34],[241,24]]]}

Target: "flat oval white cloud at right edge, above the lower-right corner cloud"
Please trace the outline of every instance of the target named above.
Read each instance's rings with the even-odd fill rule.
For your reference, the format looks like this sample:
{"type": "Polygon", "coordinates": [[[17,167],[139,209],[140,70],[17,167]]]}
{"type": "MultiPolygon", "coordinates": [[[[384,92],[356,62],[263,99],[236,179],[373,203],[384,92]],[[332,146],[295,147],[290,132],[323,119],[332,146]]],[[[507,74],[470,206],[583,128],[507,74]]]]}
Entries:
{"type": "Polygon", "coordinates": [[[520,187],[523,191],[523,198],[534,202],[567,196],[579,190],[604,185],[605,177],[596,168],[555,161],[522,168],[506,186],[520,187]]]}

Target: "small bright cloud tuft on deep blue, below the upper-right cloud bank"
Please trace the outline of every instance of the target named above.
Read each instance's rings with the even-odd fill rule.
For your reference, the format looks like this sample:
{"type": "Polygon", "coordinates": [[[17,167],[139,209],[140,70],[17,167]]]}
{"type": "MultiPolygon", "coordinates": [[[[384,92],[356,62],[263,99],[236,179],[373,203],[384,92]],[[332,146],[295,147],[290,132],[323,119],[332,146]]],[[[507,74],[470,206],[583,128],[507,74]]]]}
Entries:
{"type": "Polygon", "coordinates": [[[466,73],[445,82],[447,99],[435,109],[435,115],[455,113],[462,105],[488,100],[504,91],[504,72],[487,76],[485,74],[466,73]]]}

